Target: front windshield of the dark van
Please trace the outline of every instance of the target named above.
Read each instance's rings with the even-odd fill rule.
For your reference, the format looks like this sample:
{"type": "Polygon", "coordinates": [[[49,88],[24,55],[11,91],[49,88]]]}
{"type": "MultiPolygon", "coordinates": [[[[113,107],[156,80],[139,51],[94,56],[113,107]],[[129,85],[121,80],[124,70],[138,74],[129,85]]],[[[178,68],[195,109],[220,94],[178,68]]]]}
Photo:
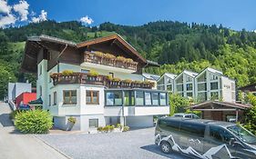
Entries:
{"type": "Polygon", "coordinates": [[[248,144],[256,144],[256,137],[240,125],[233,125],[227,128],[243,142],[248,144]]]}

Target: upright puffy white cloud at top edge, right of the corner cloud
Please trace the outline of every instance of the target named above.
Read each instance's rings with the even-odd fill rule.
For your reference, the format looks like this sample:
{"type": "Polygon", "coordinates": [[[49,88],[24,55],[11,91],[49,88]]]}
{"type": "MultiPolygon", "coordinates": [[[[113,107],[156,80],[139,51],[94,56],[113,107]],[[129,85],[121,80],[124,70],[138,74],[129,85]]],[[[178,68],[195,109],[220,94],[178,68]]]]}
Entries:
{"type": "Polygon", "coordinates": [[[19,1],[19,4],[14,5],[14,10],[20,15],[21,21],[27,20],[28,13],[28,4],[25,0],[19,1]]]}

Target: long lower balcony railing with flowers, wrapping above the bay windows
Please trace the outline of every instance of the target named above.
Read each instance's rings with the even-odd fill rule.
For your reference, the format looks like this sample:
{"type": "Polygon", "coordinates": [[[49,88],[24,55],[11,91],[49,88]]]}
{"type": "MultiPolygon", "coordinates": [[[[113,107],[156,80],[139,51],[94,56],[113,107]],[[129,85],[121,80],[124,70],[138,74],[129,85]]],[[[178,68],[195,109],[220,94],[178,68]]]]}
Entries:
{"type": "Polygon", "coordinates": [[[54,85],[56,84],[95,84],[105,85],[108,88],[145,88],[152,89],[154,83],[138,82],[131,80],[109,79],[106,75],[89,75],[85,73],[72,73],[63,75],[62,73],[51,75],[54,85]]]}

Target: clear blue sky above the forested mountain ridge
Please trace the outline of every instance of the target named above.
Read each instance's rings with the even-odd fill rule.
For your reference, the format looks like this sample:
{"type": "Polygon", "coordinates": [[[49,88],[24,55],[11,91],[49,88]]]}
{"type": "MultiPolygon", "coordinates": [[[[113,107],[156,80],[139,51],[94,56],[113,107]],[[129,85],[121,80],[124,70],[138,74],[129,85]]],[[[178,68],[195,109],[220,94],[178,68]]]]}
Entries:
{"type": "MultiPolygon", "coordinates": [[[[39,15],[44,10],[47,19],[54,19],[57,22],[79,21],[81,17],[87,16],[84,22],[90,24],[92,21],[87,19],[92,19],[93,23],[90,25],[99,25],[103,22],[143,25],[157,20],[172,20],[208,25],[222,24],[235,30],[256,29],[255,0],[26,0],[26,2],[29,5],[28,20],[21,24],[28,23],[33,16],[38,18],[35,20],[40,21],[39,15]],[[32,11],[34,14],[31,15],[32,11]]],[[[11,6],[17,3],[18,0],[7,1],[11,6]]],[[[15,17],[19,15],[15,11],[13,14],[16,15],[15,17]]],[[[16,19],[15,24],[20,24],[18,18],[16,19]]]]}

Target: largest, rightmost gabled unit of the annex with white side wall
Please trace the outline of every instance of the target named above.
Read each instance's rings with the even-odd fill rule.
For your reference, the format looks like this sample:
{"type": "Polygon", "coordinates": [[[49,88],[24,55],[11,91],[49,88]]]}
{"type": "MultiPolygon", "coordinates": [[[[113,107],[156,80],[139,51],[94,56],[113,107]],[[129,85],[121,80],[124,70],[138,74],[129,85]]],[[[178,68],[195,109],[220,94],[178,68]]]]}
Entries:
{"type": "Polygon", "coordinates": [[[198,101],[220,100],[236,102],[235,81],[210,67],[195,78],[196,98],[198,101]]]}

